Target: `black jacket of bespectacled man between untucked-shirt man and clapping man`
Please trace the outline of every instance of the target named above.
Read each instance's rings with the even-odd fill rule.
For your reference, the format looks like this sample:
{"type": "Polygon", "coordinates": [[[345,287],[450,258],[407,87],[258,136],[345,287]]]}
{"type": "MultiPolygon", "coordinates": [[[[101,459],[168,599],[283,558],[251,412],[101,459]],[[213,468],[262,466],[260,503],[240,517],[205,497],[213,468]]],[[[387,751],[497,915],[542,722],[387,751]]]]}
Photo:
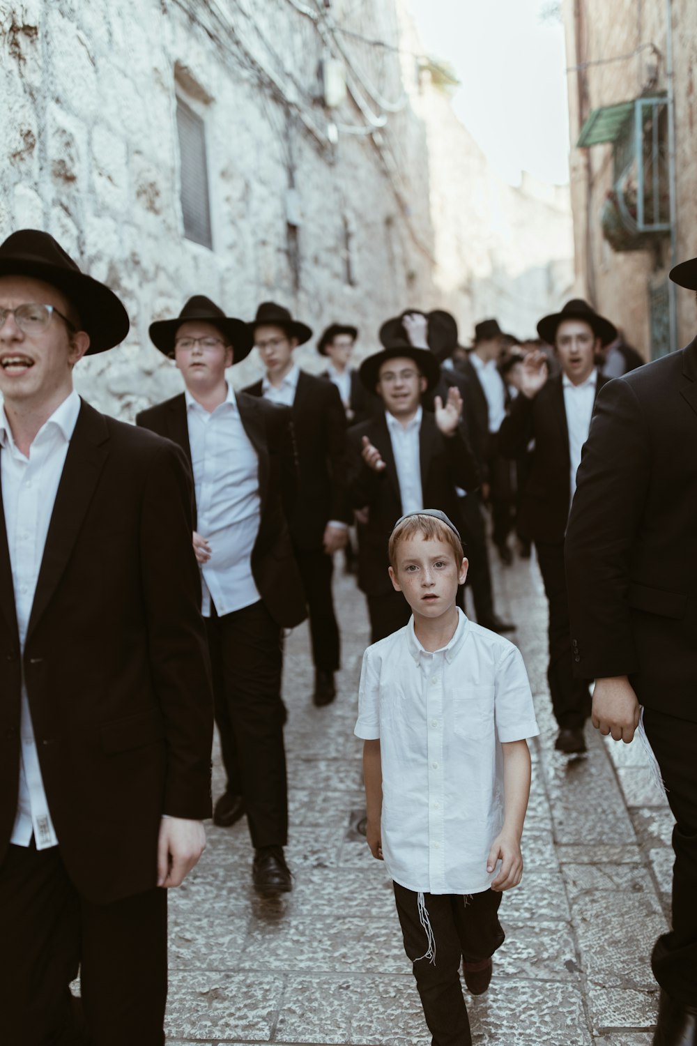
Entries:
{"type": "MultiPolygon", "coordinates": [[[[250,385],[246,391],[261,397],[261,382],[250,385]]],[[[346,414],[335,385],[304,370],[300,371],[291,411],[299,468],[298,496],[289,520],[291,537],[299,550],[321,551],[324,528],[329,520],[349,522],[346,414]]]]}

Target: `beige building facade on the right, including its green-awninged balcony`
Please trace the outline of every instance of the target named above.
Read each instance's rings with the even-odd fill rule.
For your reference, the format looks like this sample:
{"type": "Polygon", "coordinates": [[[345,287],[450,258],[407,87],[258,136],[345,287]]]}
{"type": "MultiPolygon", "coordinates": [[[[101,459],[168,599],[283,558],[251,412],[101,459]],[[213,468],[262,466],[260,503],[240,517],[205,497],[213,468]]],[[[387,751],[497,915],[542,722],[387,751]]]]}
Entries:
{"type": "Polygon", "coordinates": [[[695,332],[694,295],[668,272],[697,254],[697,5],[563,0],[563,10],[577,290],[650,359],[695,332]],[[632,228],[640,196],[644,224],[665,228],[632,228]]]}

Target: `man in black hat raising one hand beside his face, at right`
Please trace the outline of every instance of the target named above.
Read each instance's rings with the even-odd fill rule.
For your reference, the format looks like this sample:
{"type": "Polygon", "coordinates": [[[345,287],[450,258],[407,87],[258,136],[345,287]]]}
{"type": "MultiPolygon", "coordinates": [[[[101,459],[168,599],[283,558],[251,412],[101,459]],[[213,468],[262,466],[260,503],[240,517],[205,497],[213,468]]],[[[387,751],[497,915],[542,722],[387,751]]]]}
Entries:
{"type": "Polygon", "coordinates": [[[606,382],[598,372],[596,358],[615,331],[581,299],[567,301],[560,313],[545,316],[537,331],[554,345],[561,374],[549,377],[541,353],[526,357],[519,394],[501,427],[498,447],[502,454],[518,458],[534,441],[518,525],[535,543],[550,608],[548,681],[559,726],[556,748],[574,754],[585,751],[583,724],[589,697],[588,680],[576,679],[573,673],[564,533],[596,394],[606,382]]]}

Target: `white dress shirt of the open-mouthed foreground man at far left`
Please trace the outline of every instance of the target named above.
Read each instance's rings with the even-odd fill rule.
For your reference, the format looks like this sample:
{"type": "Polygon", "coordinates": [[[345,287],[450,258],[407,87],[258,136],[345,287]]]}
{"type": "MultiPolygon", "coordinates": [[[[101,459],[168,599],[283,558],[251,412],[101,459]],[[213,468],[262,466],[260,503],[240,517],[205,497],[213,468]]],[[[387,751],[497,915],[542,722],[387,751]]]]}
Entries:
{"type": "MultiPolygon", "coordinates": [[[[42,425],[28,457],[15,444],[4,407],[0,412],[2,503],[22,658],[48,526],[79,408],[73,390],[42,425]]],[[[33,836],[37,849],[47,849],[57,846],[59,840],[44,791],[24,680],[20,733],[19,800],[10,842],[28,846],[33,836]]]]}

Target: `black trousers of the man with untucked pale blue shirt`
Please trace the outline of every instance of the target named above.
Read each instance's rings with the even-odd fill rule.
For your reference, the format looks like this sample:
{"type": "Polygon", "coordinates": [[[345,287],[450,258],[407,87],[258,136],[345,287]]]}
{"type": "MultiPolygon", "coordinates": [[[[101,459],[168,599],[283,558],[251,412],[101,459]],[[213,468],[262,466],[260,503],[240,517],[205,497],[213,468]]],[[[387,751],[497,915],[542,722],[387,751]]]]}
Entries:
{"type": "Polygon", "coordinates": [[[262,600],[206,619],[228,789],[245,797],[252,844],[284,846],[288,803],[282,634],[262,600]]]}

